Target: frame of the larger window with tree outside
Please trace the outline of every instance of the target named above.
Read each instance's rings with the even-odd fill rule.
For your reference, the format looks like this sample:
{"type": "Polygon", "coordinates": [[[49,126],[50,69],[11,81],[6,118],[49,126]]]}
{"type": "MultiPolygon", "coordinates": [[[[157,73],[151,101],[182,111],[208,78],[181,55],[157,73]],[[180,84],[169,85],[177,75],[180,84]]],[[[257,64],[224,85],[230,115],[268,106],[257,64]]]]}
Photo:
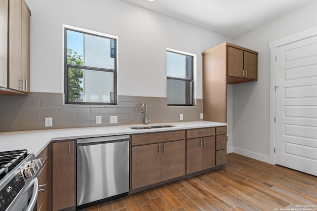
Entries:
{"type": "MultiPolygon", "coordinates": [[[[63,24],[63,93],[64,93],[64,103],[69,105],[117,105],[117,76],[118,76],[118,37],[113,35],[108,35],[105,33],[100,33],[96,31],[91,31],[87,29],[82,29],[78,27],[68,26],[63,24]],[[80,66],[74,64],[67,64],[67,30],[79,32],[83,34],[88,34],[92,36],[104,37],[106,39],[114,40],[114,69],[106,69],[99,67],[90,66],[80,66]],[[68,68],[82,69],[82,70],[92,70],[92,71],[102,71],[113,73],[113,102],[68,102],[68,68]]],[[[110,55],[112,55],[110,45],[110,55]]],[[[111,96],[110,96],[111,99],[111,96]]]]}

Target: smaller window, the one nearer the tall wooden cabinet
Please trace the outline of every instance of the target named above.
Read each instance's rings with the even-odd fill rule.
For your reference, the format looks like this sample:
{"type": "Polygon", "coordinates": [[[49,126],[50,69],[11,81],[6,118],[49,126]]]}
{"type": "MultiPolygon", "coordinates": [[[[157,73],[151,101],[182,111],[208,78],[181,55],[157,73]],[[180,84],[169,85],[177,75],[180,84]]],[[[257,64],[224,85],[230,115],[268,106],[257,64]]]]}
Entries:
{"type": "Polygon", "coordinates": [[[195,54],[167,49],[167,105],[193,105],[195,54]]]}

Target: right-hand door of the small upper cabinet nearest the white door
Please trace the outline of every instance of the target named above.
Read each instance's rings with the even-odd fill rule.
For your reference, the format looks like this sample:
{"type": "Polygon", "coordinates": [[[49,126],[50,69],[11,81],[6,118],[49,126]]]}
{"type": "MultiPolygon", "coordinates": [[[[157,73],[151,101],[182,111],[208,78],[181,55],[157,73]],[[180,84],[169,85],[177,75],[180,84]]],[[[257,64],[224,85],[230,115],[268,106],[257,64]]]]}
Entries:
{"type": "Polygon", "coordinates": [[[244,78],[258,80],[258,55],[244,51],[244,78]]]}

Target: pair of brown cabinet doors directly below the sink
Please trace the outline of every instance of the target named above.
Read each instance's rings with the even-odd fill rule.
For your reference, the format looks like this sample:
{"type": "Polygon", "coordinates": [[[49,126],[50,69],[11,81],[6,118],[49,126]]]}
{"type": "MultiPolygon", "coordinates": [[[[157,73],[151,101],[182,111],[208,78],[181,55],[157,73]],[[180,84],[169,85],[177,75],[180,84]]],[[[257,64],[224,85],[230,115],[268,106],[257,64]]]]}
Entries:
{"type": "Polygon", "coordinates": [[[185,175],[185,140],[131,147],[131,189],[185,175]]]}

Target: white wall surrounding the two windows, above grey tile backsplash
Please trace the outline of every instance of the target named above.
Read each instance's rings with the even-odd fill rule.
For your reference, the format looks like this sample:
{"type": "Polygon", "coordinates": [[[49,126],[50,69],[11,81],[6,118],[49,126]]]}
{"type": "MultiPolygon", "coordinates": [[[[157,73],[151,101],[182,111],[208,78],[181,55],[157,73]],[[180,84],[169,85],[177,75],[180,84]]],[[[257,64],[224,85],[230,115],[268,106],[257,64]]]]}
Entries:
{"type": "Polygon", "coordinates": [[[62,92],[62,24],[118,36],[118,94],[166,97],[166,48],[197,54],[232,39],[123,0],[26,0],[31,11],[31,91],[62,92]]]}

